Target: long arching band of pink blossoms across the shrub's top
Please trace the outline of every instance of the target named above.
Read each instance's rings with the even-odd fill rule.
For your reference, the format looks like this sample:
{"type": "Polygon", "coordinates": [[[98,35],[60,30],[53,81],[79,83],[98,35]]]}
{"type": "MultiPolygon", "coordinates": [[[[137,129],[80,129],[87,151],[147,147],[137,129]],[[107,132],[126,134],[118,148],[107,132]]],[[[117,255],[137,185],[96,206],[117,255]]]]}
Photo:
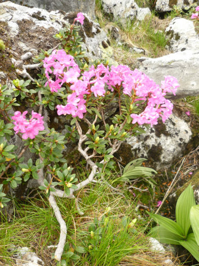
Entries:
{"type": "Polygon", "coordinates": [[[111,69],[103,64],[96,68],[92,65],[88,71],[81,74],[73,57],[67,55],[64,50],[53,51],[52,55],[44,59],[44,67],[48,79],[46,85],[49,84],[51,92],[57,92],[63,83],[70,84],[67,104],[57,105],[58,115],[72,115],[81,119],[86,112],[85,99],[88,94],[98,97],[104,96],[108,90],[120,90],[120,93],[129,95],[134,101],[145,101],[145,108],[139,115],[131,114],[132,123],[153,126],[157,124],[159,117],[162,117],[163,122],[169,118],[173,104],[165,95],[168,92],[175,95],[179,87],[174,77],[165,76],[160,87],[146,74],[137,69],[133,71],[126,65],[111,66],[111,69]],[[54,74],[55,80],[49,77],[49,73],[54,74]]]}

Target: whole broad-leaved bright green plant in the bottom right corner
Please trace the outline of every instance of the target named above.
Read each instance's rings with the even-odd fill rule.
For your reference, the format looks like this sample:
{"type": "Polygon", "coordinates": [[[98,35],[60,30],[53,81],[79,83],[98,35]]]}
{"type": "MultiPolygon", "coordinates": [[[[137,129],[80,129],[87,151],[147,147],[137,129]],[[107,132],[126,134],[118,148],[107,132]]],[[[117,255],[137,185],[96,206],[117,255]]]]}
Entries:
{"type": "Polygon", "coordinates": [[[176,221],[147,212],[159,226],[150,235],[161,243],[181,245],[199,261],[199,205],[196,205],[191,184],[178,198],[176,221]]]}

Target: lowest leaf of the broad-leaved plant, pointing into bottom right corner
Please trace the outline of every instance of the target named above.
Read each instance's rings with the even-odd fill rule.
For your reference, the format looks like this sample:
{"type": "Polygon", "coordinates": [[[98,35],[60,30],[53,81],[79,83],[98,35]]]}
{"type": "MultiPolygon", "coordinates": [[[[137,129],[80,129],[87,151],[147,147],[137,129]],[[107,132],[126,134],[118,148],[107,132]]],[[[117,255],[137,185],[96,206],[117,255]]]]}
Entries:
{"type": "Polygon", "coordinates": [[[193,233],[189,234],[186,240],[179,241],[180,245],[186,248],[199,262],[199,246],[197,245],[193,233]]]}

